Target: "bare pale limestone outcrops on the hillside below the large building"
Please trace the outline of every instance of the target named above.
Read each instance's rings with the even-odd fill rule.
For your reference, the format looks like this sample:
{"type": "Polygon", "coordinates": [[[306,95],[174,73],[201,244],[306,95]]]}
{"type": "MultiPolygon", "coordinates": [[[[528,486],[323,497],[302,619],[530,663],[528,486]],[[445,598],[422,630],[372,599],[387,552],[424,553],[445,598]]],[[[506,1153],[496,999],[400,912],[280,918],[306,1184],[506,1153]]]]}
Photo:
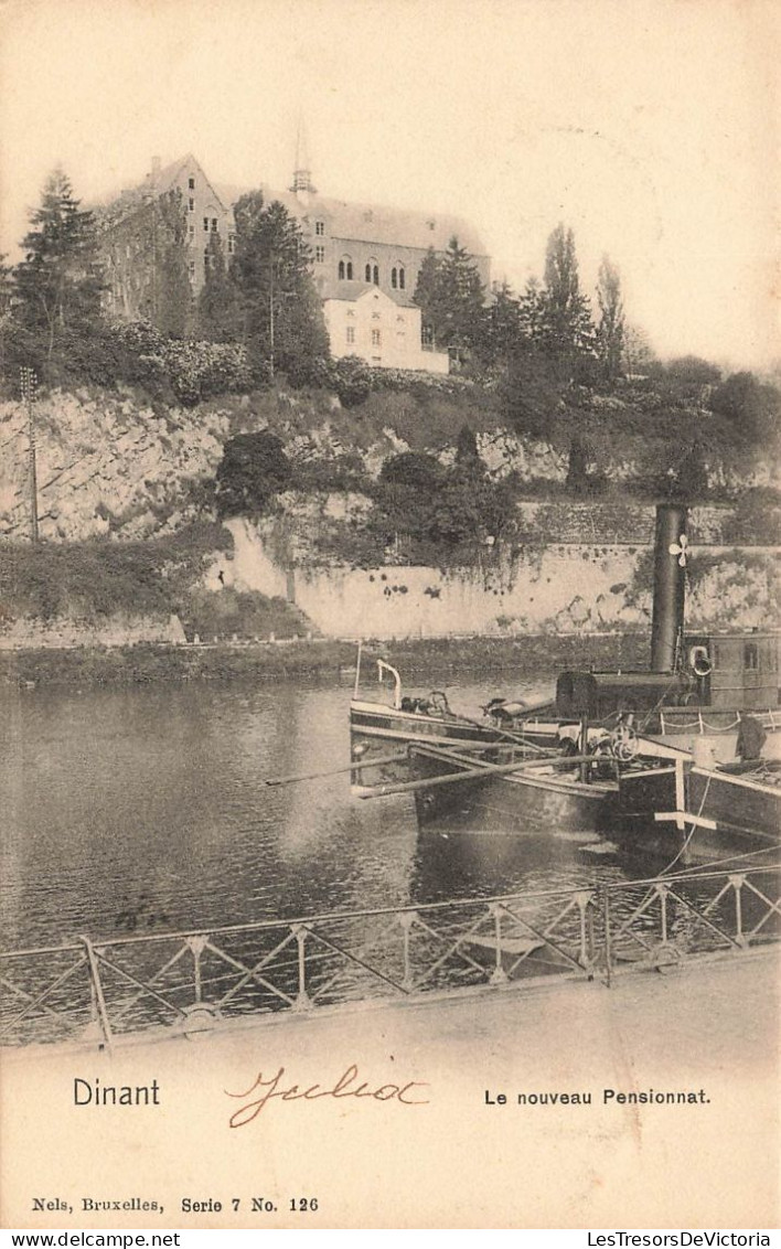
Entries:
{"type": "MultiPolygon", "coordinates": [[[[152,407],[130,392],[47,395],[34,410],[41,538],[81,541],[104,535],[129,541],[180,528],[195,510],[194,486],[214,478],[224,443],[237,430],[270,427],[281,437],[291,462],[305,473],[314,470],[312,487],[319,472],[327,477],[330,470],[332,477],[335,466],[376,477],[387,456],[421,447],[422,415],[412,421],[412,442],[409,403],[394,397],[399,400],[396,407],[389,406],[382,418],[375,413],[374,423],[367,423],[361,410],[356,410],[357,415],[342,411],[332,396],[297,396],[281,390],[226,397],[195,408],[152,407]],[[394,413],[399,428],[392,425],[394,413]]],[[[430,450],[442,462],[454,457],[456,432],[445,436],[440,430],[431,435],[430,450]]],[[[514,472],[521,482],[550,482],[554,487],[566,477],[566,456],[545,443],[502,428],[480,432],[476,441],[484,463],[496,477],[514,472]]],[[[29,446],[26,408],[21,403],[0,403],[0,538],[26,538],[30,532],[29,446]]],[[[620,448],[601,467],[614,481],[631,477],[637,470],[621,457],[620,448]]],[[[781,465],[757,463],[751,471],[736,465],[735,480],[727,485],[779,486],[780,475],[781,465]]],[[[307,493],[312,495],[312,490],[307,493]]],[[[301,530],[305,542],[306,507],[287,502],[291,523],[301,530]]],[[[520,511],[536,506],[521,505],[520,511]]],[[[610,532],[600,522],[597,528],[605,532],[595,535],[589,508],[572,501],[546,506],[549,532],[539,536],[549,541],[562,537],[565,530],[571,537],[625,541],[622,526],[631,528],[631,516],[639,511],[630,507],[622,513],[614,505],[610,532]]],[[[600,505],[596,507],[599,511],[600,505]]]]}

